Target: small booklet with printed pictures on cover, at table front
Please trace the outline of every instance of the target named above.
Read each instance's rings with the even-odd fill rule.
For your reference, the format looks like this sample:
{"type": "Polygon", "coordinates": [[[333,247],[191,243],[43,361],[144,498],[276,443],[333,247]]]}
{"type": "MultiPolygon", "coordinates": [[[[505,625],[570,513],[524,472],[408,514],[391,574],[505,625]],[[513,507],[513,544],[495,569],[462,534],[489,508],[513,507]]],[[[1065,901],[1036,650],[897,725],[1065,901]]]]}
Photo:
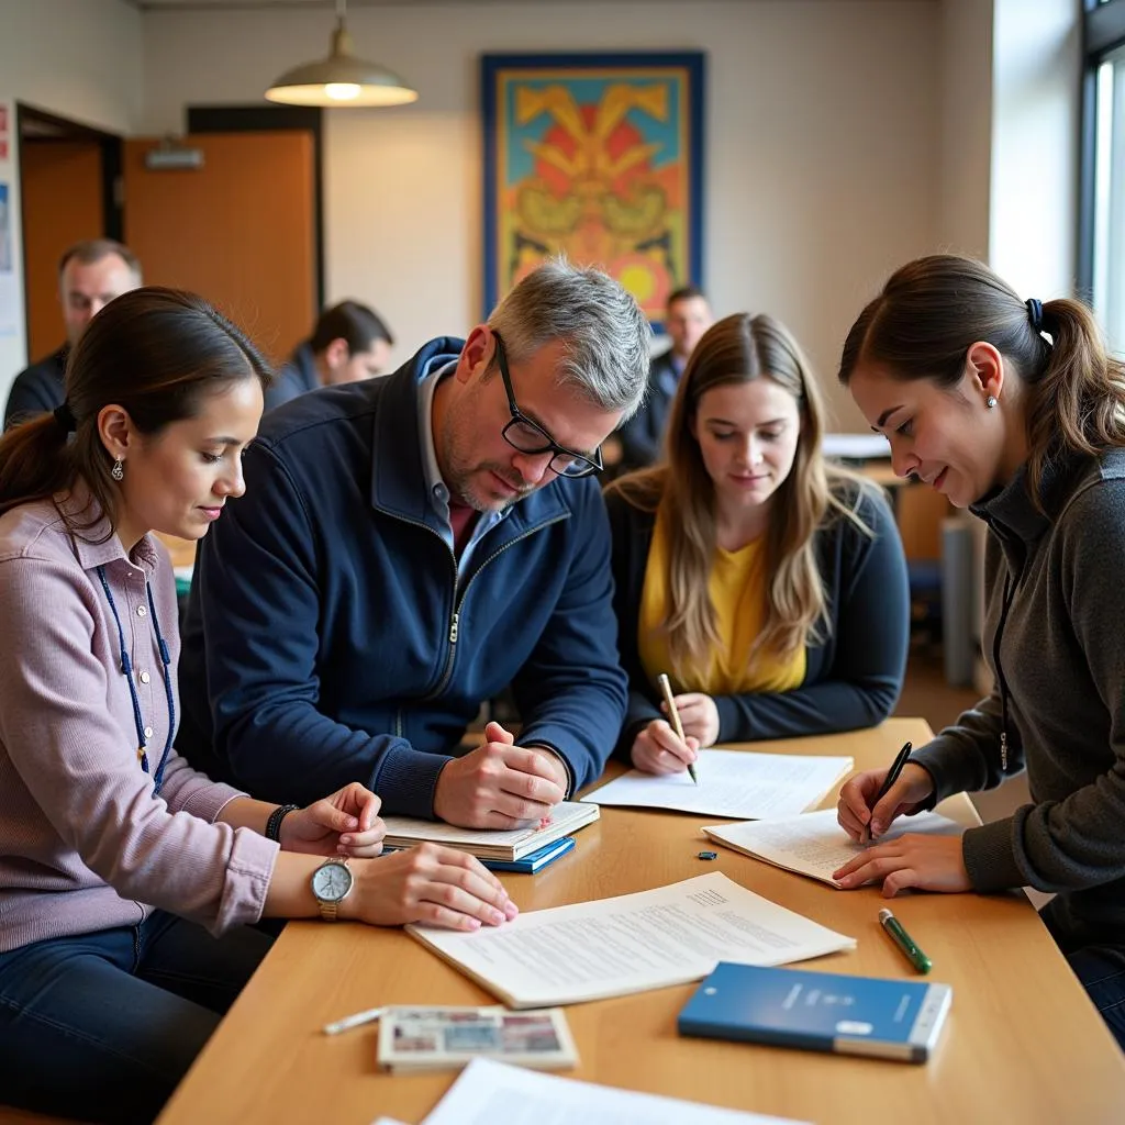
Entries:
{"type": "Polygon", "coordinates": [[[477,1058],[566,1070],[578,1052],[561,1008],[390,1007],[379,1022],[378,1058],[395,1073],[460,1068],[477,1058]]]}

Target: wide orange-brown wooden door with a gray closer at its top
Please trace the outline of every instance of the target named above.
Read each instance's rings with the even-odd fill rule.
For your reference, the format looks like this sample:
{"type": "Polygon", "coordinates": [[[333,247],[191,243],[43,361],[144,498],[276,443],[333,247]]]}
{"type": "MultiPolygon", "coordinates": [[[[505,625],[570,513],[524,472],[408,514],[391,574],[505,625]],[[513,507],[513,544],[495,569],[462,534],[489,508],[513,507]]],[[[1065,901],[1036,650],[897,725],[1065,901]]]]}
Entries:
{"type": "Polygon", "coordinates": [[[125,241],[151,285],[191,289],[274,362],[316,317],[310,133],[199,133],[199,169],[150,170],[158,141],[125,142],[125,241]]]}

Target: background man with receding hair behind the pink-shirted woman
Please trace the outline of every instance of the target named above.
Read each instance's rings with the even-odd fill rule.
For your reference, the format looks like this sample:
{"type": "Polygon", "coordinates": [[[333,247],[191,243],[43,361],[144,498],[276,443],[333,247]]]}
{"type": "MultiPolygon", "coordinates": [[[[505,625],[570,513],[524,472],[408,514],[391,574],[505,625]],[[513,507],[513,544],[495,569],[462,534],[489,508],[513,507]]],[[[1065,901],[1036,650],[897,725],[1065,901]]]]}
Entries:
{"type": "Polygon", "coordinates": [[[63,253],[58,262],[58,296],[66,342],[16,376],[4,407],[6,430],[62,403],[63,374],[71,348],[99,309],[141,284],[141,263],[127,246],[111,238],[76,242],[63,253]]]}

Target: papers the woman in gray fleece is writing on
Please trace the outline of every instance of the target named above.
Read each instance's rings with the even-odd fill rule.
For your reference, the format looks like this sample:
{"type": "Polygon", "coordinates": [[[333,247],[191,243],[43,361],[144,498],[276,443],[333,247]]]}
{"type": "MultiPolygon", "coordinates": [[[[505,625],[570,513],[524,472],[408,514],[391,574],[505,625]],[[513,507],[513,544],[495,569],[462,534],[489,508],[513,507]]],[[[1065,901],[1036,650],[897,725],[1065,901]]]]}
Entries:
{"type": "MultiPolygon", "coordinates": [[[[957,836],[965,830],[947,817],[936,812],[919,812],[914,817],[899,817],[875,844],[884,844],[907,832],[926,832],[934,836],[957,836]]],[[[871,845],[856,844],[840,828],[835,809],[807,812],[788,820],[760,820],[756,824],[716,825],[703,831],[720,844],[735,848],[755,860],[765,860],[799,875],[819,879],[822,883],[839,886],[832,879],[853,856],[871,845]]]]}

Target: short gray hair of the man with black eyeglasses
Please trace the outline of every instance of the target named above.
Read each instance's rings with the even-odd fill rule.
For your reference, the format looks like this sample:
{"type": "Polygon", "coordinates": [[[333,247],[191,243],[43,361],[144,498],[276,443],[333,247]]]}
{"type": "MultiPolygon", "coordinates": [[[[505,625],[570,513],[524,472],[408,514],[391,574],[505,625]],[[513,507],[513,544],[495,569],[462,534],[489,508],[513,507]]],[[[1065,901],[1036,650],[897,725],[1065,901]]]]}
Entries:
{"type": "Polygon", "coordinates": [[[501,300],[488,327],[516,361],[565,341],[559,386],[576,387],[604,411],[622,411],[622,422],[645,397],[648,321],[628,290],[601,270],[550,259],[501,300]]]}

